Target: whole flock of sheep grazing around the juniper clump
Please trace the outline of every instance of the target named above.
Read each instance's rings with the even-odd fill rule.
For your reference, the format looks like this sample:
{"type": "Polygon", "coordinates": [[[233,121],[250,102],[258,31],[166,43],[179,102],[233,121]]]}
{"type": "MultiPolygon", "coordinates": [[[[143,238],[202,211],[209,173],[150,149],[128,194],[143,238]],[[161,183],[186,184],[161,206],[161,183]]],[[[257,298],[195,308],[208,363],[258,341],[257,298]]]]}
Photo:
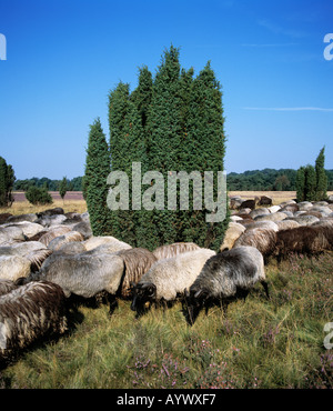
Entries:
{"type": "Polygon", "coordinates": [[[46,335],[65,332],[71,295],[119,298],[142,314],[152,303],[182,301],[193,324],[202,308],[243,297],[259,282],[269,298],[264,261],[289,252],[333,249],[333,206],[268,198],[230,199],[229,229],[216,253],[194,243],[154,251],[93,237],[88,213],[56,208],[0,214],[0,362],[46,335]]]}

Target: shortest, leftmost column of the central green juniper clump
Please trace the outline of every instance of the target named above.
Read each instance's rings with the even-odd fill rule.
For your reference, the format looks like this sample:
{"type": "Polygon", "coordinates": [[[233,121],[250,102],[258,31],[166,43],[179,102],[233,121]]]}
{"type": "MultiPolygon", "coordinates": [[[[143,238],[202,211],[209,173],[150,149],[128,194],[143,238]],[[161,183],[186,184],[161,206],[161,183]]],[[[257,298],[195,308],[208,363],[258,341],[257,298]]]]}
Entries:
{"type": "Polygon", "coordinates": [[[107,206],[109,173],[110,151],[98,118],[90,126],[84,172],[85,201],[93,235],[104,235],[109,228],[110,210],[107,206]]]}

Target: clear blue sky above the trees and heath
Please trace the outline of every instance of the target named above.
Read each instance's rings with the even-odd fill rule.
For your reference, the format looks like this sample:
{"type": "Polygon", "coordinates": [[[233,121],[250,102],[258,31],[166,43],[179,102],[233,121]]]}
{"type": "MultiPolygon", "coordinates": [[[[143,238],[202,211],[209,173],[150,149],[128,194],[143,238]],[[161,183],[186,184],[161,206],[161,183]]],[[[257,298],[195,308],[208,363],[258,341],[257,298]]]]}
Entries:
{"type": "Polygon", "coordinates": [[[0,0],[0,156],[18,179],[82,176],[110,89],[133,90],[171,43],[222,84],[228,172],[296,169],[323,146],[333,169],[332,0],[0,0]]]}

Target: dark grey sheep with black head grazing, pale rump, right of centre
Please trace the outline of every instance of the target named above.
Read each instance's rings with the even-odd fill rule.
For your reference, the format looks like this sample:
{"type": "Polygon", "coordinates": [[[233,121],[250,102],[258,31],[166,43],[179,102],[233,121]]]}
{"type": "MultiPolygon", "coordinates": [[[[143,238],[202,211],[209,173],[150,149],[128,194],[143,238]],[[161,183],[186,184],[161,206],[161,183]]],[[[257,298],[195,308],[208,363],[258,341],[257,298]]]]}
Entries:
{"type": "Polygon", "coordinates": [[[190,291],[184,292],[186,321],[193,325],[201,309],[208,309],[211,303],[224,304],[239,295],[245,298],[258,282],[270,298],[260,251],[253,247],[239,247],[220,252],[206,261],[190,291]]]}

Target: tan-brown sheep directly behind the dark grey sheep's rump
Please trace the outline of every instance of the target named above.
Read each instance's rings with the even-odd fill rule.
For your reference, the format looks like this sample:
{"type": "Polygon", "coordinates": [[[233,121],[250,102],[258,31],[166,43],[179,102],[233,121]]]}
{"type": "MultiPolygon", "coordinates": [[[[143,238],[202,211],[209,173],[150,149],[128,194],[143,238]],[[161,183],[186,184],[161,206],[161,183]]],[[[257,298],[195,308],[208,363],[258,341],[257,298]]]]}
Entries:
{"type": "Polygon", "coordinates": [[[235,241],[233,248],[250,245],[256,248],[264,258],[271,255],[276,245],[276,231],[271,229],[248,229],[235,241]]]}

